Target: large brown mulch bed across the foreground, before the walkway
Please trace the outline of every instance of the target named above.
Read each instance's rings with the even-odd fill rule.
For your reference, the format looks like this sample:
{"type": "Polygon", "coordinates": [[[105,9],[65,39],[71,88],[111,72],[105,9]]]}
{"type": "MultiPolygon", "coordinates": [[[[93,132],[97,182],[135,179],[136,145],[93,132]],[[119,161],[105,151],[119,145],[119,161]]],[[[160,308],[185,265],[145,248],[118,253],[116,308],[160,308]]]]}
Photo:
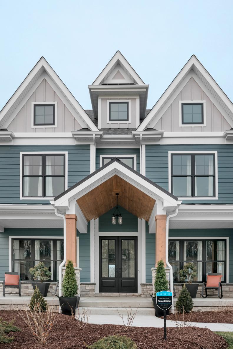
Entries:
{"type": "Polygon", "coordinates": [[[15,325],[22,332],[11,333],[15,340],[9,344],[0,344],[1,349],[85,349],[98,339],[111,334],[127,335],[134,340],[139,349],[226,349],[226,341],[206,328],[184,327],[167,328],[167,341],[163,339],[163,328],[131,327],[122,332],[120,325],[87,324],[84,330],[78,329],[72,318],[58,314],[57,325],[52,328],[47,345],[40,345],[29,332],[16,311],[0,311],[4,320],[15,318],[15,325]]]}

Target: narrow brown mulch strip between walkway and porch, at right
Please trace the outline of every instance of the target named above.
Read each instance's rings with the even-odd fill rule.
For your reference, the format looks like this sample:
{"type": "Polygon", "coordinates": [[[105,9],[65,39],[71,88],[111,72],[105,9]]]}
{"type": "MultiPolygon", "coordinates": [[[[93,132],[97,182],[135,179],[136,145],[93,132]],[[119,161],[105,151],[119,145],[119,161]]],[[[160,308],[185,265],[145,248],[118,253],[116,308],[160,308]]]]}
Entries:
{"type": "MultiPolygon", "coordinates": [[[[178,321],[183,321],[183,314],[170,314],[167,316],[168,320],[175,320],[177,316],[178,321]]],[[[189,320],[190,314],[184,314],[184,319],[189,320]]],[[[233,311],[193,311],[191,315],[191,322],[214,322],[215,324],[233,324],[233,311]]]]}

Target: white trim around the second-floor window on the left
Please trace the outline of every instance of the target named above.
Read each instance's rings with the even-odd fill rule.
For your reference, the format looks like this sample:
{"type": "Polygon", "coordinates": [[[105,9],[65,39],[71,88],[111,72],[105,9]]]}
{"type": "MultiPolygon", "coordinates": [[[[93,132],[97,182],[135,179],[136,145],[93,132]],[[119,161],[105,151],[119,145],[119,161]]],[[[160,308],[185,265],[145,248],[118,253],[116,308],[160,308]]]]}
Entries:
{"type": "Polygon", "coordinates": [[[23,196],[23,155],[34,155],[34,154],[65,154],[65,190],[68,189],[68,151],[21,151],[20,152],[20,200],[53,200],[54,196],[51,198],[40,198],[35,196],[34,198],[27,198],[23,196]]]}

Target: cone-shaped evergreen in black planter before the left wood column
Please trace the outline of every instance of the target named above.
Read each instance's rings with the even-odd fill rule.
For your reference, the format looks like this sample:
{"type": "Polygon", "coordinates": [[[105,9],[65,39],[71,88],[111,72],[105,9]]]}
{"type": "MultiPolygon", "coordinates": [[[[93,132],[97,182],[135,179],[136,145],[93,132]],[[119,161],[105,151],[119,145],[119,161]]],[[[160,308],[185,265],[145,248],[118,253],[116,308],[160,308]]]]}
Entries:
{"type": "Polygon", "coordinates": [[[62,297],[59,298],[59,304],[62,309],[62,314],[75,314],[75,309],[78,307],[80,297],[77,294],[78,285],[75,277],[75,269],[72,261],[67,261],[65,275],[62,283],[62,297]]]}

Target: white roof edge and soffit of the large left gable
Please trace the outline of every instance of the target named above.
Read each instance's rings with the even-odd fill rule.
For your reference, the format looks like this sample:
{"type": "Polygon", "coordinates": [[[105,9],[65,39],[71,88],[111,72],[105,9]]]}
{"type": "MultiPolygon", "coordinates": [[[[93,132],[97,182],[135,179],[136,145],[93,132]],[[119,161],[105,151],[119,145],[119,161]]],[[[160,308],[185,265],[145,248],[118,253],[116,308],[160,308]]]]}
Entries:
{"type": "Polygon", "coordinates": [[[58,93],[60,92],[68,109],[72,108],[73,116],[80,124],[82,124],[81,126],[89,127],[92,131],[98,131],[98,128],[94,125],[82,106],[71,94],[69,89],[65,86],[63,81],[55,73],[54,69],[52,69],[44,57],[41,57],[40,60],[38,60],[36,65],[31,69],[21,85],[0,111],[0,127],[8,126],[21,109],[21,104],[26,103],[28,98],[31,96],[31,93],[33,93],[30,93],[30,91],[35,88],[35,86],[37,87],[42,78],[46,79],[46,75],[43,76],[44,72],[47,73],[49,78],[48,82],[52,84],[52,87],[58,90],[58,93]]]}

